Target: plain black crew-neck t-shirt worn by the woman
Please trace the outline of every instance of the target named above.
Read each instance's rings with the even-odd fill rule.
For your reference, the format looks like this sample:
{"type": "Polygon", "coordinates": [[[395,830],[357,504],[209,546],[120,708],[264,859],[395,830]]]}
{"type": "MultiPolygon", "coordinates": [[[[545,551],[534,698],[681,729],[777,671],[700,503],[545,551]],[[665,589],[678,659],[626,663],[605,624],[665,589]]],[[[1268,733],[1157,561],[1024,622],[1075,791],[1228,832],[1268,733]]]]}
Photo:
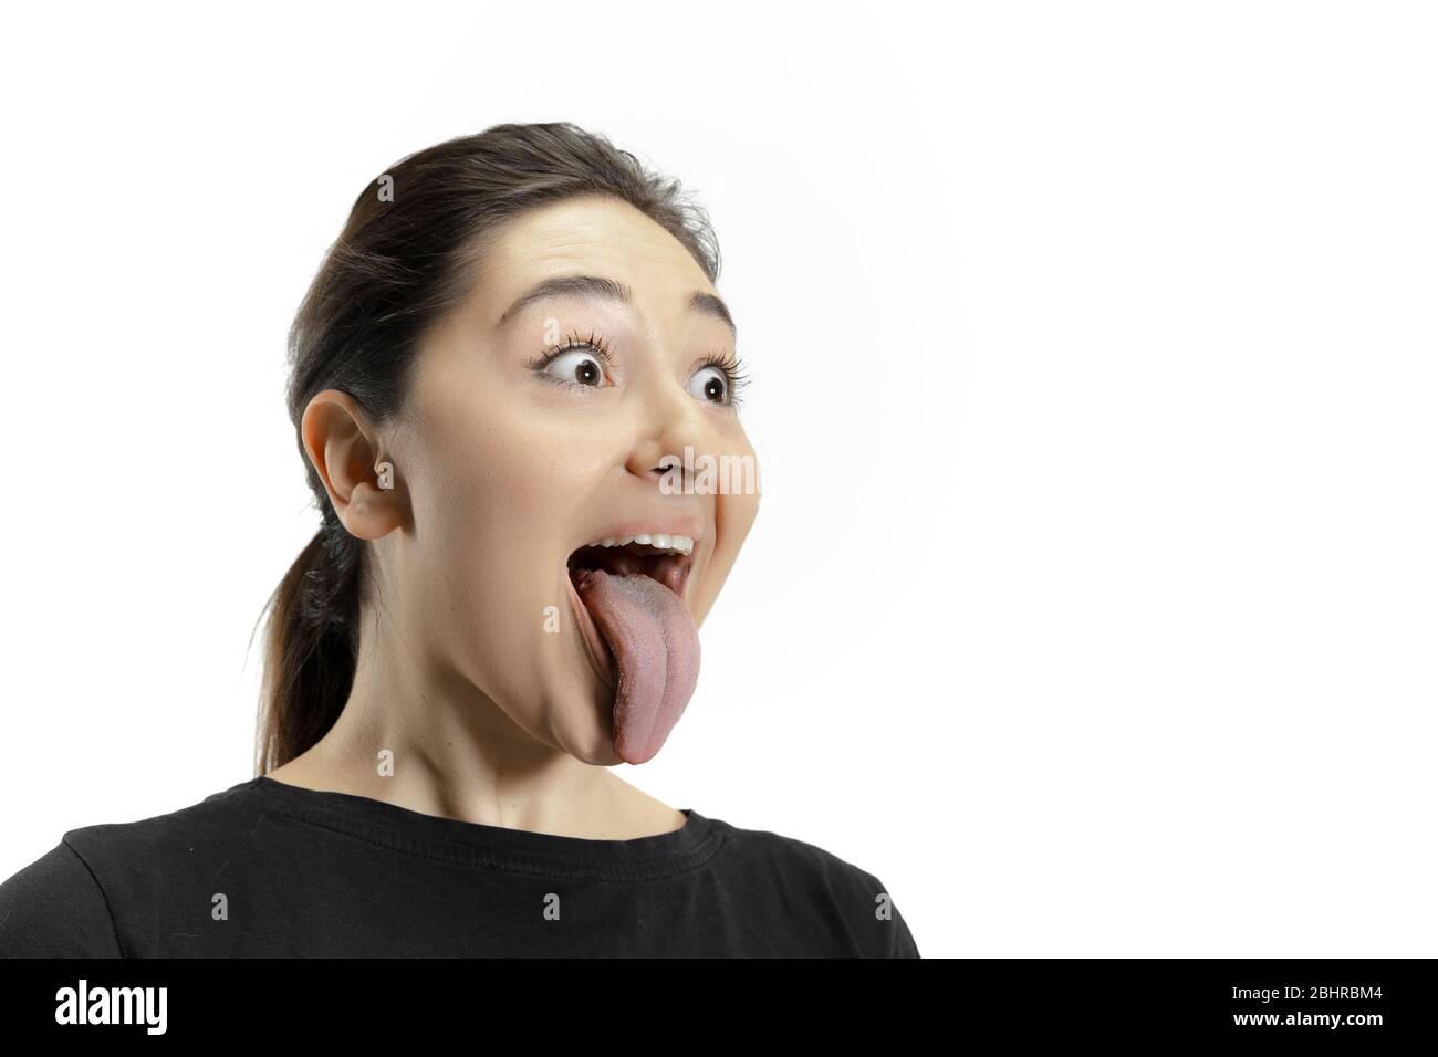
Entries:
{"type": "Polygon", "coordinates": [[[919,958],[873,874],[683,814],[587,840],[259,777],[68,831],[0,884],[0,955],[919,958]]]}

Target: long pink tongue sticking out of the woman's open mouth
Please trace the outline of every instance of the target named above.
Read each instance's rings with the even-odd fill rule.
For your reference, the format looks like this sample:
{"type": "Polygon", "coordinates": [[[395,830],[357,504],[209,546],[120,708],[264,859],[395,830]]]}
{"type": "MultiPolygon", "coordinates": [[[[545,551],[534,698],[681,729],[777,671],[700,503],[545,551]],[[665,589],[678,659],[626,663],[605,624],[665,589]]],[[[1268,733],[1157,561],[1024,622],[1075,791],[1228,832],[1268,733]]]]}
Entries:
{"type": "Polygon", "coordinates": [[[643,574],[580,569],[575,590],[614,654],[614,752],[651,759],[699,682],[699,630],[683,600],[643,574]]]}

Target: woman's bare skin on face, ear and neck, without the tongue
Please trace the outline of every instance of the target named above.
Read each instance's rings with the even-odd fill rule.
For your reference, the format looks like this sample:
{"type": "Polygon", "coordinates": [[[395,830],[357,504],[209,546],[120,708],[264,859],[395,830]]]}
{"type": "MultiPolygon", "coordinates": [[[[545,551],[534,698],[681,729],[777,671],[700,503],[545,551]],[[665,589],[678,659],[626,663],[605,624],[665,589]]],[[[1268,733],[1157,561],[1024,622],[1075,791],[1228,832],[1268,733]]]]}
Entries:
{"type": "Polygon", "coordinates": [[[467,301],[427,335],[400,420],[375,427],[338,390],[313,397],[305,449],[341,522],[370,541],[378,603],[339,720],[270,778],[592,840],[684,824],[608,769],[621,762],[613,689],[574,620],[565,562],[615,523],[692,525],[683,598],[702,626],[738,557],[758,495],[660,489],[661,459],[686,446],[754,457],[738,411],[706,388],[703,360],[732,355],[733,334],[695,292],[718,296],[638,210],[595,196],[544,206],[499,232],[467,301]],[[575,275],[624,283],[631,303],[567,293],[502,321],[536,282],[575,275]],[[591,332],[613,362],[580,351],[532,367],[557,338],[591,332]]]}

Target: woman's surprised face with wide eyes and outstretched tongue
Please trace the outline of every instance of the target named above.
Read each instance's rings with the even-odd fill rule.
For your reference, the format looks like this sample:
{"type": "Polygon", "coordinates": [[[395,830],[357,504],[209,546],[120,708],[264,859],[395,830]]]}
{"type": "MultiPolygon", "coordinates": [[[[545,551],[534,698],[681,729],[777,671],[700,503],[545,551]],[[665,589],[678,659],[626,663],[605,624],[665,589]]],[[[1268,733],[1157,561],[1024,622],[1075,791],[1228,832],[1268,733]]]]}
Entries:
{"type": "Polygon", "coordinates": [[[499,230],[414,365],[391,457],[408,523],[385,541],[398,634],[587,762],[659,751],[697,677],[695,628],[758,512],[719,303],[643,213],[571,198],[499,230]],[[574,278],[627,298],[588,280],[531,298],[574,278]],[[720,472],[696,480],[706,463],[720,472]],[[581,551],[643,532],[669,535],[669,554],[628,554],[653,539],[581,551]],[[571,557],[601,571],[571,575],[571,557]]]}

